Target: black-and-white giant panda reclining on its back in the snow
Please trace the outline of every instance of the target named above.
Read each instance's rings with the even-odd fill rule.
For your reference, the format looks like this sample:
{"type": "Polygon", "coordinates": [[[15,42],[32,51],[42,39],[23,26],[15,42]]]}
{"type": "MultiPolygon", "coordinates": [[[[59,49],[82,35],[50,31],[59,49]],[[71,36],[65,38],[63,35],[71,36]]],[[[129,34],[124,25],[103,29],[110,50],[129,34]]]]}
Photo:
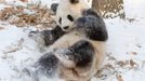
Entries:
{"type": "Polygon", "coordinates": [[[42,37],[41,43],[49,46],[31,67],[35,70],[27,71],[36,81],[56,73],[66,81],[89,81],[104,58],[108,36],[103,19],[83,0],[61,0],[56,22],[58,26],[53,30],[29,33],[32,38],[42,37]]]}

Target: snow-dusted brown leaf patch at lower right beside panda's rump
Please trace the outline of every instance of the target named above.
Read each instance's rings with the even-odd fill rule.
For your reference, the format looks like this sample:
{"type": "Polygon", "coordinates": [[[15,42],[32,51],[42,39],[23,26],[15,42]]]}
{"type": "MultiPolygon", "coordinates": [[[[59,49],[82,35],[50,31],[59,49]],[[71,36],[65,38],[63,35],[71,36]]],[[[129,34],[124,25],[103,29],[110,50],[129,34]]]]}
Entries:
{"type": "Polygon", "coordinates": [[[139,65],[133,59],[117,60],[117,58],[107,55],[107,63],[97,71],[96,78],[105,80],[111,76],[116,76],[118,81],[123,81],[120,70],[137,69],[139,65]]]}

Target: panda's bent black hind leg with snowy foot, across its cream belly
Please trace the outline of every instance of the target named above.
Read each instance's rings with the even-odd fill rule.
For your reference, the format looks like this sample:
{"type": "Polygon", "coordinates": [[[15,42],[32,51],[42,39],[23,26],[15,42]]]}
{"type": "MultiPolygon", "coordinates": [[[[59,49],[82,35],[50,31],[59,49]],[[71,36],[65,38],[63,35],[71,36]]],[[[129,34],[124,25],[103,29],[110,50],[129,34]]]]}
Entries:
{"type": "Polygon", "coordinates": [[[93,45],[87,40],[80,40],[66,50],[56,50],[55,56],[66,67],[85,67],[92,63],[93,45]]]}

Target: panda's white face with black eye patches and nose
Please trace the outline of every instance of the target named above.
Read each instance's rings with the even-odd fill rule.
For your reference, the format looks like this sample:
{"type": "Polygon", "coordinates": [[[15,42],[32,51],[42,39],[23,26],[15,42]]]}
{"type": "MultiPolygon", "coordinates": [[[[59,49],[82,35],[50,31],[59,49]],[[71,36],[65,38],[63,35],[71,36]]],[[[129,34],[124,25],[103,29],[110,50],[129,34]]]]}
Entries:
{"type": "Polygon", "coordinates": [[[74,21],[81,17],[82,11],[89,8],[84,0],[61,0],[55,18],[57,25],[64,31],[69,31],[72,28],[74,21]]]}

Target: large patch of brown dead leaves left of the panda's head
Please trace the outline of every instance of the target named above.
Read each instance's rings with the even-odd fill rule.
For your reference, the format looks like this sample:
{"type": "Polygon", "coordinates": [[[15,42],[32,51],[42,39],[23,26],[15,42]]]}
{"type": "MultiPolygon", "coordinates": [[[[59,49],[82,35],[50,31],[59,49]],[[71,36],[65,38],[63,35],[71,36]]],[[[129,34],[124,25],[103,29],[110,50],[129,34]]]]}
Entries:
{"type": "Polygon", "coordinates": [[[0,21],[17,27],[35,26],[44,30],[56,25],[53,15],[51,10],[41,4],[27,4],[27,8],[12,5],[0,11],[0,21]]]}

